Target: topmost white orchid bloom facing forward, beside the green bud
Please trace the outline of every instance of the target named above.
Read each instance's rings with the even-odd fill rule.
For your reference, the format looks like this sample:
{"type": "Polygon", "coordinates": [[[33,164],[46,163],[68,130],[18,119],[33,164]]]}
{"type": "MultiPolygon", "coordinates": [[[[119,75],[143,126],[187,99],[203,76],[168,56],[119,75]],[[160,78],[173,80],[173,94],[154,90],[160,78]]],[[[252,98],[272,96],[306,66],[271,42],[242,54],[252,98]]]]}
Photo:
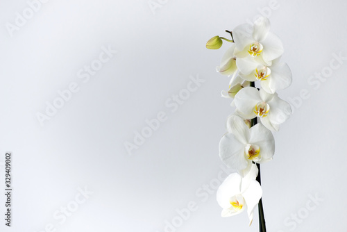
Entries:
{"type": "Polygon", "coordinates": [[[270,22],[266,17],[259,17],[254,25],[242,24],[232,31],[235,42],[235,56],[245,58],[252,56],[260,63],[271,65],[271,60],[280,56],[284,51],[281,40],[269,32],[270,22]]]}

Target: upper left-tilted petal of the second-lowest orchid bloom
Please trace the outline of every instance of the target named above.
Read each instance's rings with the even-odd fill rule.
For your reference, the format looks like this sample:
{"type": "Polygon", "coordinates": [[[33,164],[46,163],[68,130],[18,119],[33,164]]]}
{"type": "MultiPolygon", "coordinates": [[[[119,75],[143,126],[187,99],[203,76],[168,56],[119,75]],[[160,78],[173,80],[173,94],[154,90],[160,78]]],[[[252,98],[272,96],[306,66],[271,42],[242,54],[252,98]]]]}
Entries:
{"type": "Polygon", "coordinates": [[[230,115],[227,121],[228,132],[235,135],[235,138],[239,140],[242,144],[247,144],[250,133],[249,128],[244,122],[244,119],[238,117],[237,115],[230,115]]]}

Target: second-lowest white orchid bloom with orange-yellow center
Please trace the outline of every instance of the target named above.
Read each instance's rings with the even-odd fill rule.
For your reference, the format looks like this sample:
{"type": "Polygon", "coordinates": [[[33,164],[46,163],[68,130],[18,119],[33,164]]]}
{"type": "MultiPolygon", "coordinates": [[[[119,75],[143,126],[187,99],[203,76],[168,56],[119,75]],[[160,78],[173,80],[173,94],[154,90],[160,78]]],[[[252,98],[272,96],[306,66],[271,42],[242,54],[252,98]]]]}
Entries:
{"type": "Polygon", "coordinates": [[[253,162],[266,163],[272,159],[275,140],[265,126],[256,124],[248,128],[244,119],[231,115],[227,128],[228,133],[219,142],[219,157],[228,167],[242,174],[253,162]]]}

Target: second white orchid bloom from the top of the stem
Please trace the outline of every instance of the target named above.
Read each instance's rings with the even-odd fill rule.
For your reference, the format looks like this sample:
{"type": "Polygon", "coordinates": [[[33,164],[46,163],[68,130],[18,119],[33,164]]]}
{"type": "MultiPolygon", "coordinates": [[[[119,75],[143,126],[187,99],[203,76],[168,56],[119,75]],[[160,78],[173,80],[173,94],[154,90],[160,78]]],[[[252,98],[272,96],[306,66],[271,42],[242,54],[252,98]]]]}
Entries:
{"type": "Polygon", "coordinates": [[[289,66],[280,62],[280,58],[273,60],[272,65],[266,66],[248,56],[236,60],[239,75],[246,81],[260,81],[262,89],[270,94],[283,90],[291,85],[291,71],[289,66]]]}

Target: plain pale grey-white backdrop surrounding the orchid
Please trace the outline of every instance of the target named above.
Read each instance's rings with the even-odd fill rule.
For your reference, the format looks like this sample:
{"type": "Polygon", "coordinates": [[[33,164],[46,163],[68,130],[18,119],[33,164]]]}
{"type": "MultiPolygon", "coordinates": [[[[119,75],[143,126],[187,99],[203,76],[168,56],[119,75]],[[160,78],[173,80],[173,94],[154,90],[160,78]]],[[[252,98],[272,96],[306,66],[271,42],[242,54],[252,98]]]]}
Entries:
{"type": "MultiPolygon", "coordinates": [[[[224,30],[260,11],[282,39],[282,60],[293,73],[280,97],[296,99],[294,114],[274,133],[273,160],[262,165],[267,229],[347,231],[347,59],[324,81],[309,82],[330,62],[339,64],[334,54],[347,57],[347,3],[278,0],[269,12],[273,1],[153,1],[161,6],[154,13],[146,0],[51,0],[11,37],[6,23],[28,3],[1,0],[0,185],[5,152],[12,151],[13,215],[11,228],[1,216],[0,231],[53,224],[67,232],[162,232],[189,201],[196,210],[174,231],[258,231],[257,213],[249,228],[246,213],[222,218],[215,199],[223,167],[218,144],[234,109],[220,97],[228,78],[215,72],[228,44],[211,51],[205,42],[227,37],[224,30]],[[78,71],[109,46],[117,54],[83,83],[78,71]],[[172,113],[165,102],[197,75],[205,82],[172,113]],[[78,92],[40,126],[37,112],[73,82],[78,92]],[[302,91],[310,97],[300,103],[302,91]],[[129,155],[124,142],[161,111],[167,120],[129,155]],[[53,215],[78,188],[93,194],[60,224],[53,215]],[[314,195],[323,200],[307,210],[314,195]]],[[[1,215],[4,202],[1,194],[1,215]]]]}

